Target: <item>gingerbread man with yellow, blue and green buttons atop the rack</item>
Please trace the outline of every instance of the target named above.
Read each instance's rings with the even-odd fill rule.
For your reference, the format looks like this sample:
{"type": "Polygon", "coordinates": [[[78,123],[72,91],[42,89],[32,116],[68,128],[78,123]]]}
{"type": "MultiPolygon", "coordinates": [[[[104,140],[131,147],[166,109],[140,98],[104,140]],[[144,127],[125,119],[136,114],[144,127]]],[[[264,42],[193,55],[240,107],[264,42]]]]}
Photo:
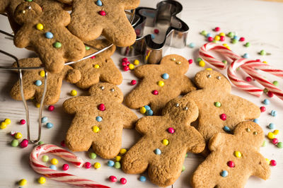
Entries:
{"type": "Polygon", "coordinates": [[[59,73],[65,61],[83,57],[85,46],[66,26],[71,17],[64,10],[42,11],[35,2],[19,4],[14,18],[21,26],[15,35],[16,47],[32,47],[39,54],[47,71],[59,73]]]}

